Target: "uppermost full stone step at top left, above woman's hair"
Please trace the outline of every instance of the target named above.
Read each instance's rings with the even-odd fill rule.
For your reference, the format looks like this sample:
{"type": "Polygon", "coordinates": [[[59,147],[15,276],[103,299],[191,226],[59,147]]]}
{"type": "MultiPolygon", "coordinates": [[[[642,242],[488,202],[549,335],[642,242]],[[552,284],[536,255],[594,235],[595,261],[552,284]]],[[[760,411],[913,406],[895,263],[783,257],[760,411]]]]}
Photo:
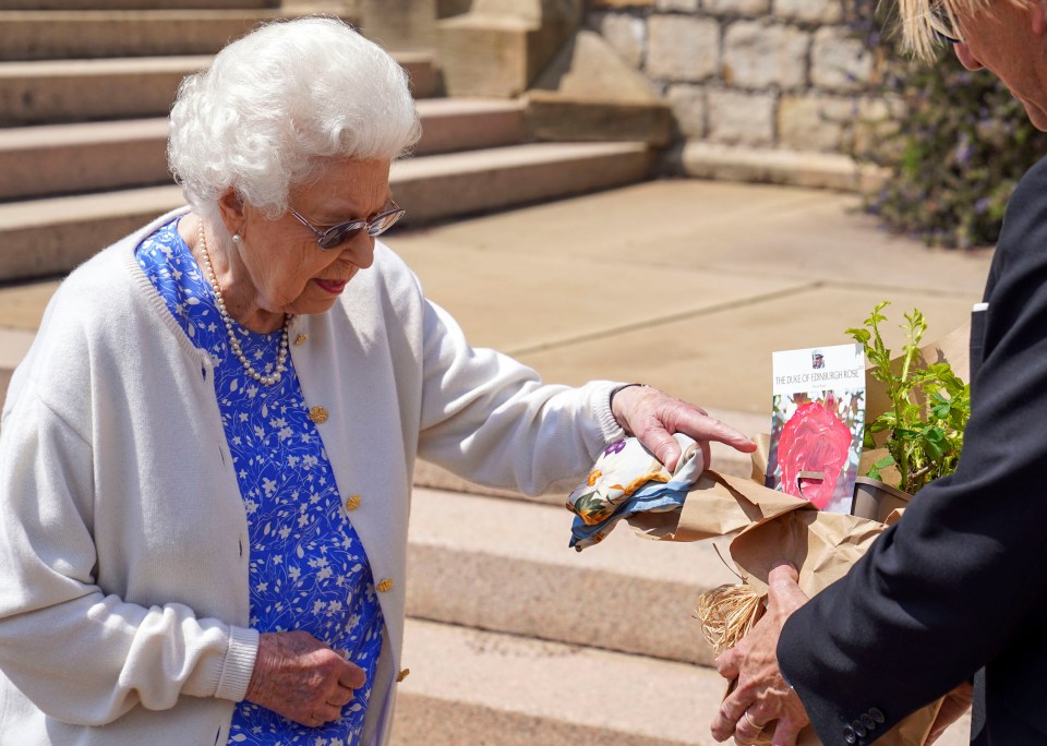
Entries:
{"type": "Polygon", "coordinates": [[[212,55],[269,10],[2,11],[0,60],[212,55]]]}

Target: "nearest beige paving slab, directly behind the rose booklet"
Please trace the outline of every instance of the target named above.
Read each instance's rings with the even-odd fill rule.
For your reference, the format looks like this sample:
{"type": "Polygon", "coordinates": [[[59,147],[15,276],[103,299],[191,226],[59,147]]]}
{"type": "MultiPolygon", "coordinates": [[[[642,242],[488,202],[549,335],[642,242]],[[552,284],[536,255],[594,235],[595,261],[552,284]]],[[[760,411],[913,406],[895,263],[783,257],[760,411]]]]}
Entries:
{"type": "MultiPolygon", "coordinates": [[[[769,412],[773,351],[852,341],[844,329],[859,325],[881,300],[893,302],[890,320],[901,322],[902,311],[914,305],[923,311],[931,341],[963,324],[977,299],[825,286],[517,357],[550,381],[580,384],[599,370],[603,377],[641,381],[701,406],[769,412]]],[[[902,332],[893,323],[881,330],[888,347],[900,349],[902,332]]]]}

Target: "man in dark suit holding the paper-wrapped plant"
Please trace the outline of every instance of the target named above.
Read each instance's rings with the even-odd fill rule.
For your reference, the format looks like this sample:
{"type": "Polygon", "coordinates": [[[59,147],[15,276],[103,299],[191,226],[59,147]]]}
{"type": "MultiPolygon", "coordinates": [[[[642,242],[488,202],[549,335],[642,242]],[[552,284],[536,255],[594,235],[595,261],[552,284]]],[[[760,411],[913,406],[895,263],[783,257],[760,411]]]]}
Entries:
{"type": "MultiPolygon", "coordinates": [[[[917,51],[951,35],[966,68],[989,68],[1047,130],[1045,0],[899,7],[917,51]]],[[[973,679],[972,743],[1047,744],[1047,160],[1011,198],[985,302],[959,470],[809,601],[795,570],[772,571],[767,615],[718,661],[738,678],[718,741],[766,729],[789,746],[809,719],[827,746],[870,744],[953,691],[943,726],[973,679]]]]}

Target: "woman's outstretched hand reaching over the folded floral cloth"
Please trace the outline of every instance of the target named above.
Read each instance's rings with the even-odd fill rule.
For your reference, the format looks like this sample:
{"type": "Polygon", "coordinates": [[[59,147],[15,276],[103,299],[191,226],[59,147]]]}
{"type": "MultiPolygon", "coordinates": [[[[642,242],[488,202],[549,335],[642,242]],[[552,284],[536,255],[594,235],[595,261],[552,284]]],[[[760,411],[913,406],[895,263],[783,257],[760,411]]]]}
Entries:
{"type": "Polygon", "coordinates": [[[639,438],[670,471],[679,460],[679,445],[673,433],[684,433],[698,442],[707,469],[710,466],[710,441],[725,443],[746,454],[756,450],[756,444],[749,438],[709,417],[706,410],[651,386],[619,388],[611,399],[611,411],[623,430],[639,438]]]}

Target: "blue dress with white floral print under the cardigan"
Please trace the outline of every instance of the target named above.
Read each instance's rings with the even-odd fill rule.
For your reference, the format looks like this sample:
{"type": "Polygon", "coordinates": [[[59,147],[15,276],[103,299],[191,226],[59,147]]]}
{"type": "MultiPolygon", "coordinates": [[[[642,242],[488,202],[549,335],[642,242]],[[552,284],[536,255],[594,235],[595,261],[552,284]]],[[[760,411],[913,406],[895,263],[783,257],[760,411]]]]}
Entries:
{"type": "MultiPolygon", "coordinates": [[[[177,219],[164,226],[135,255],[189,338],[216,361],[215,393],[248,513],[251,626],[263,633],[308,631],[335,650],[348,651],[349,660],[368,674],[341,720],[321,727],[240,702],[229,743],[358,744],[382,650],[382,610],[366,553],[309,419],[292,360],[288,358],[288,370],[272,386],[246,374],[229,351],[210,285],[177,228],[177,219]]],[[[254,369],[263,375],[272,372],[281,333],[254,334],[239,324],[233,328],[254,369]]]]}

